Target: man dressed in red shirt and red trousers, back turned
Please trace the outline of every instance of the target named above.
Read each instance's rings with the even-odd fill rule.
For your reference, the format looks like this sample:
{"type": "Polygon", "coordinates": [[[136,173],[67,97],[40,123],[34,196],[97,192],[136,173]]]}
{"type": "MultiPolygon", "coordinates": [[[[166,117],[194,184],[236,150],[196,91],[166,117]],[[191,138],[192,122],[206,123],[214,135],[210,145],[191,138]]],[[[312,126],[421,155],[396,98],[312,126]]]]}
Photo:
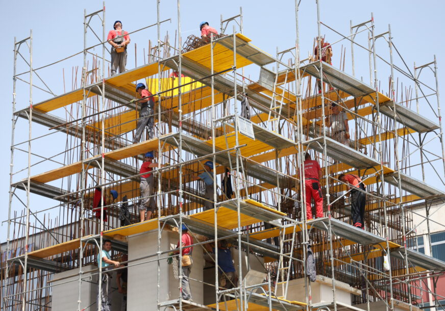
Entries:
{"type": "Polygon", "coordinates": [[[321,218],[323,217],[323,194],[322,190],[320,189],[320,179],[322,179],[323,173],[318,162],[311,160],[311,155],[309,152],[306,153],[304,158],[304,176],[307,220],[313,219],[311,205],[312,198],[314,198],[315,201],[315,216],[316,218],[321,218]]]}

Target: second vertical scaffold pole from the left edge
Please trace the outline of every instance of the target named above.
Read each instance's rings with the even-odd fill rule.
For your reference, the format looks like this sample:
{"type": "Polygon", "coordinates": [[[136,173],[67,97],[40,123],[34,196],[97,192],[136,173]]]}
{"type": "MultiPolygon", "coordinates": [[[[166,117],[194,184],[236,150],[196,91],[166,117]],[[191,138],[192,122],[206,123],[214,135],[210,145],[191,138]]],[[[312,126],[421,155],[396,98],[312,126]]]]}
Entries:
{"type": "Polygon", "coordinates": [[[33,30],[30,31],[30,112],[29,133],[28,133],[28,178],[26,189],[26,226],[25,226],[25,246],[24,246],[24,264],[23,264],[23,294],[21,309],[26,309],[26,296],[28,287],[28,245],[29,245],[29,228],[30,228],[30,186],[31,186],[31,138],[32,138],[32,121],[33,121],[33,30]]]}

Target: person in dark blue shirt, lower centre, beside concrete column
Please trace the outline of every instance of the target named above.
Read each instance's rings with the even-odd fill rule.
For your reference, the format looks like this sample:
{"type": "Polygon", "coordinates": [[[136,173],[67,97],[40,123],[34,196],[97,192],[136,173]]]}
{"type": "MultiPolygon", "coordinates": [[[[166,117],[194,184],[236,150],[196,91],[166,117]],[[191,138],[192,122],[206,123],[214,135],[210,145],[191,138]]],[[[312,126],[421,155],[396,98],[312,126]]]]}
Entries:
{"type": "Polygon", "coordinates": [[[214,244],[204,244],[207,251],[215,254],[218,252],[218,285],[225,289],[237,287],[238,275],[233,265],[232,251],[230,250],[227,240],[220,240],[217,243],[218,248],[215,250],[214,244]]]}

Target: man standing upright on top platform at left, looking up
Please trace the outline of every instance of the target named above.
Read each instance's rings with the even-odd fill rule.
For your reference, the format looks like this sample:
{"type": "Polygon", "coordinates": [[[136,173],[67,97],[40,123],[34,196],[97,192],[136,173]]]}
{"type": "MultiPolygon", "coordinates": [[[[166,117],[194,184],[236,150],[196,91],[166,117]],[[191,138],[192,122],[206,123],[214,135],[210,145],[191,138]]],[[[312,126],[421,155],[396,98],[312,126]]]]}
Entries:
{"type": "Polygon", "coordinates": [[[125,71],[127,65],[127,45],[130,43],[128,32],[122,30],[122,22],[116,20],[113,25],[114,30],[108,33],[108,43],[111,44],[111,75],[115,75],[117,69],[119,73],[125,71]]]}

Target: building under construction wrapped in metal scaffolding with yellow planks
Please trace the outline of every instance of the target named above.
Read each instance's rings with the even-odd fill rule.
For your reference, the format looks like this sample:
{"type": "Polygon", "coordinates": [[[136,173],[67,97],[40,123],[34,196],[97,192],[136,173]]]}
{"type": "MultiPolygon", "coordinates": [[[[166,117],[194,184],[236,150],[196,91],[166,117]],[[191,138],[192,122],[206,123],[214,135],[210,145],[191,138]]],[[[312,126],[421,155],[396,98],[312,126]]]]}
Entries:
{"type": "MultiPolygon", "coordinates": [[[[32,32],[15,40],[2,309],[102,309],[97,293],[103,275],[115,277],[124,269],[97,264],[106,239],[112,242],[111,258],[127,264],[128,310],[442,309],[445,292],[438,281],[445,262],[421,251],[417,239],[420,225],[427,225],[427,237],[430,224],[442,226],[438,215],[445,204],[435,56],[409,67],[390,27],[375,33],[371,15],[341,34],[322,21],[316,2],[314,48],[324,48],[322,36],[329,31],[329,46],[341,54],[334,65],[312,55],[303,59],[298,4],[289,5],[295,11],[295,45],[272,56],[243,32],[241,10],[221,16],[217,36],[190,36],[183,43],[179,21],[170,40],[162,32],[157,1],[158,20],[144,28],[158,33],[146,63],[112,76],[102,22],[103,37],[91,46],[84,40],[80,87],[59,96],[48,92],[39,103],[32,99],[33,79],[40,79],[43,67],[32,64],[32,32]],[[376,50],[380,41],[386,41],[385,49],[376,50]],[[342,44],[350,46],[350,55],[342,44]],[[91,52],[98,47],[102,55],[91,52]],[[26,72],[16,72],[20,57],[29,66],[26,72]],[[368,61],[369,80],[356,76],[356,59],[368,61]],[[345,70],[345,60],[352,71],[345,70]],[[257,76],[245,74],[253,67],[257,76]],[[390,75],[378,76],[382,71],[390,75]],[[30,86],[29,103],[16,102],[16,85],[23,82],[30,86]],[[137,83],[146,85],[155,102],[155,137],[144,133],[140,142],[134,135],[144,98],[137,83]],[[333,106],[348,118],[346,144],[327,126],[333,106]],[[28,124],[28,139],[14,139],[17,122],[28,124]],[[50,130],[34,134],[36,126],[50,130]],[[59,139],[45,154],[33,151],[59,139]],[[141,222],[138,204],[146,198],[139,169],[148,151],[165,166],[152,171],[157,207],[152,219],[141,222]],[[324,217],[315,219],[307,217],[308,152],[323,173],[324,217]],[[28,161],[16,161],[17,154],[28,161]],[[208,161],[211,199],[193,178],[208,161]],[[351,190],[341,173],[357,175],[366,185],[362,228],[352,223],[351,190]],[[42,197],[53,205],[41,204],[42,197]],[[205,203],[213,208],[205,209],[205,203]],[[12,213],[17,206],[22,212],[12,213]],[[192,300],[181,294],[183,225],[193,238],[192,300]],[[218,249],[221,241],[231,245],[238,275],[230,286],[220,284],[218,252],[205,247],[218,249]],[[311,269],[316,276],[309,276],[311,269]]],[[[179,8],[178,0],[178,19],[179,8]]],[[[105,20],[105,4],[85,13],[85,38],[94,18],[105,20]]],[[[112,289],[111,309],[120,310],[123,295],[114,278],[112,289]]]]}

